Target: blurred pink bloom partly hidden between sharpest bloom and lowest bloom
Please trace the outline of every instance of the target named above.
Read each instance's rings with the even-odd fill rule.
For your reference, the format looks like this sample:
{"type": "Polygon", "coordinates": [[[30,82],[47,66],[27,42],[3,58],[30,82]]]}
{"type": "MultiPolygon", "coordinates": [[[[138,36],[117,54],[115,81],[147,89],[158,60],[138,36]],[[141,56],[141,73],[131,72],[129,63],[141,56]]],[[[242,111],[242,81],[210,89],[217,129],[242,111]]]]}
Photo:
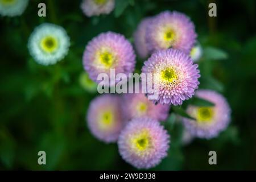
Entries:
{"type": "Polygon", "coordinates": [[[169,105],[155,105],[143,93],[124,94],[122,107],[127,121],[138,117],[164,121],[167,119],[170,110],[169,105]]]}

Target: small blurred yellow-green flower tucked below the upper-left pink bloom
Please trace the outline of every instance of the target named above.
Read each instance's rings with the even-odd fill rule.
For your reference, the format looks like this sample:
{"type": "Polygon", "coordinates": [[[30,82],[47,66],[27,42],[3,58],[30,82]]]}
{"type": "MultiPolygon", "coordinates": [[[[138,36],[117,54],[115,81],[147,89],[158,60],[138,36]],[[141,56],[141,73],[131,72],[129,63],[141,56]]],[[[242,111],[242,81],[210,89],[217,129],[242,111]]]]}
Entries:
{"type": "Polygon", "coordinates": [[[86,72],[82,72],[79,77],[79,82],[82,88],[90,93],[94,93],[97,90],[96,82],[90,80],[88,74],[86,72]]]}

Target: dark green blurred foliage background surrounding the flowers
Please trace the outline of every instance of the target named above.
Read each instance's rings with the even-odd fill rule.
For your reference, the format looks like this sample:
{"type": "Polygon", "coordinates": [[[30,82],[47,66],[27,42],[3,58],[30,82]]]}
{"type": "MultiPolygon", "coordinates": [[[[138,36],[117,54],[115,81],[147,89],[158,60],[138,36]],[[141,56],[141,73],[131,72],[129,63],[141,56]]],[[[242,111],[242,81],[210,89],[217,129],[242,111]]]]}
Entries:
{"type": "MultiPolygon", "coordinates": [[[[169,155],[153,169],[256,169],[256,19],[255,1],[117,0],[109,15],[87,18],[80,1],[30,1],[22,16],[0,17],[0,169],[134,169],[118,154],[116,144],[104,144],[86,127],[85,114],[97,93],[79,83],[82,52],[89,40],[115,31],[133,42],[139,21],[163,10],[187,14],[204,48],[200,88],[217,90],[232,108],[228,129],[211,140],[182,146],[182,128],[171,114],[164,125],[172,143],[169,155]],[[38,3],[47,16],[39,18],[38,3]],[[208,16],[216,2],[217,17],[208,16]],[[44,67],[28,53],[28,36],[43,22],[59,24],[71,38],[64,60],[44,67]],[[47,165],[38,165],[38,151],[47,165]],[[217,165],[208,152],[217,152],[217,165]]],[[[137,69],[143,62],[137,58],[137,69]]],[[[172,113],[172,110],[171,110],[172,113]]]]}

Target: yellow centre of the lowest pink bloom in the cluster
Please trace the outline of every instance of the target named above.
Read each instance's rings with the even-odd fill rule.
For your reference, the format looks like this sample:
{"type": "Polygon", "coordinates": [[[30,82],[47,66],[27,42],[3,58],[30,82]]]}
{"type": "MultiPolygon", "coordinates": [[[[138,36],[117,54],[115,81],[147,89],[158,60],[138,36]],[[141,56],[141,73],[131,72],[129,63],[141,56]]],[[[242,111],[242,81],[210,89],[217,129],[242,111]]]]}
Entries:
{"type": "Polygon", "coordinates": [[[142,130],[141,133],[135,134],[131,140],[135,151],[144,151],[151,145],[150,134],[147,130],[142,130]]]}

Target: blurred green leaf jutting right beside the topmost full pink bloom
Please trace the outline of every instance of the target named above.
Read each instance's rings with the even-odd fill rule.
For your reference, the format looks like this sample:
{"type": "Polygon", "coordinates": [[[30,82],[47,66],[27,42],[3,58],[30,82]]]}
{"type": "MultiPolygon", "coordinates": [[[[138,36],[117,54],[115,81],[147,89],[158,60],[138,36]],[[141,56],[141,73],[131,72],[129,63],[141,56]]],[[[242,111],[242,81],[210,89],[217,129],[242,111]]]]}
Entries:
{"type": "Polygon", "coordinates": [[[204,49],[204,58],[207,60],[223,60],[228,58],[228,54],[221,49],[207,47],[204,49]]]}

